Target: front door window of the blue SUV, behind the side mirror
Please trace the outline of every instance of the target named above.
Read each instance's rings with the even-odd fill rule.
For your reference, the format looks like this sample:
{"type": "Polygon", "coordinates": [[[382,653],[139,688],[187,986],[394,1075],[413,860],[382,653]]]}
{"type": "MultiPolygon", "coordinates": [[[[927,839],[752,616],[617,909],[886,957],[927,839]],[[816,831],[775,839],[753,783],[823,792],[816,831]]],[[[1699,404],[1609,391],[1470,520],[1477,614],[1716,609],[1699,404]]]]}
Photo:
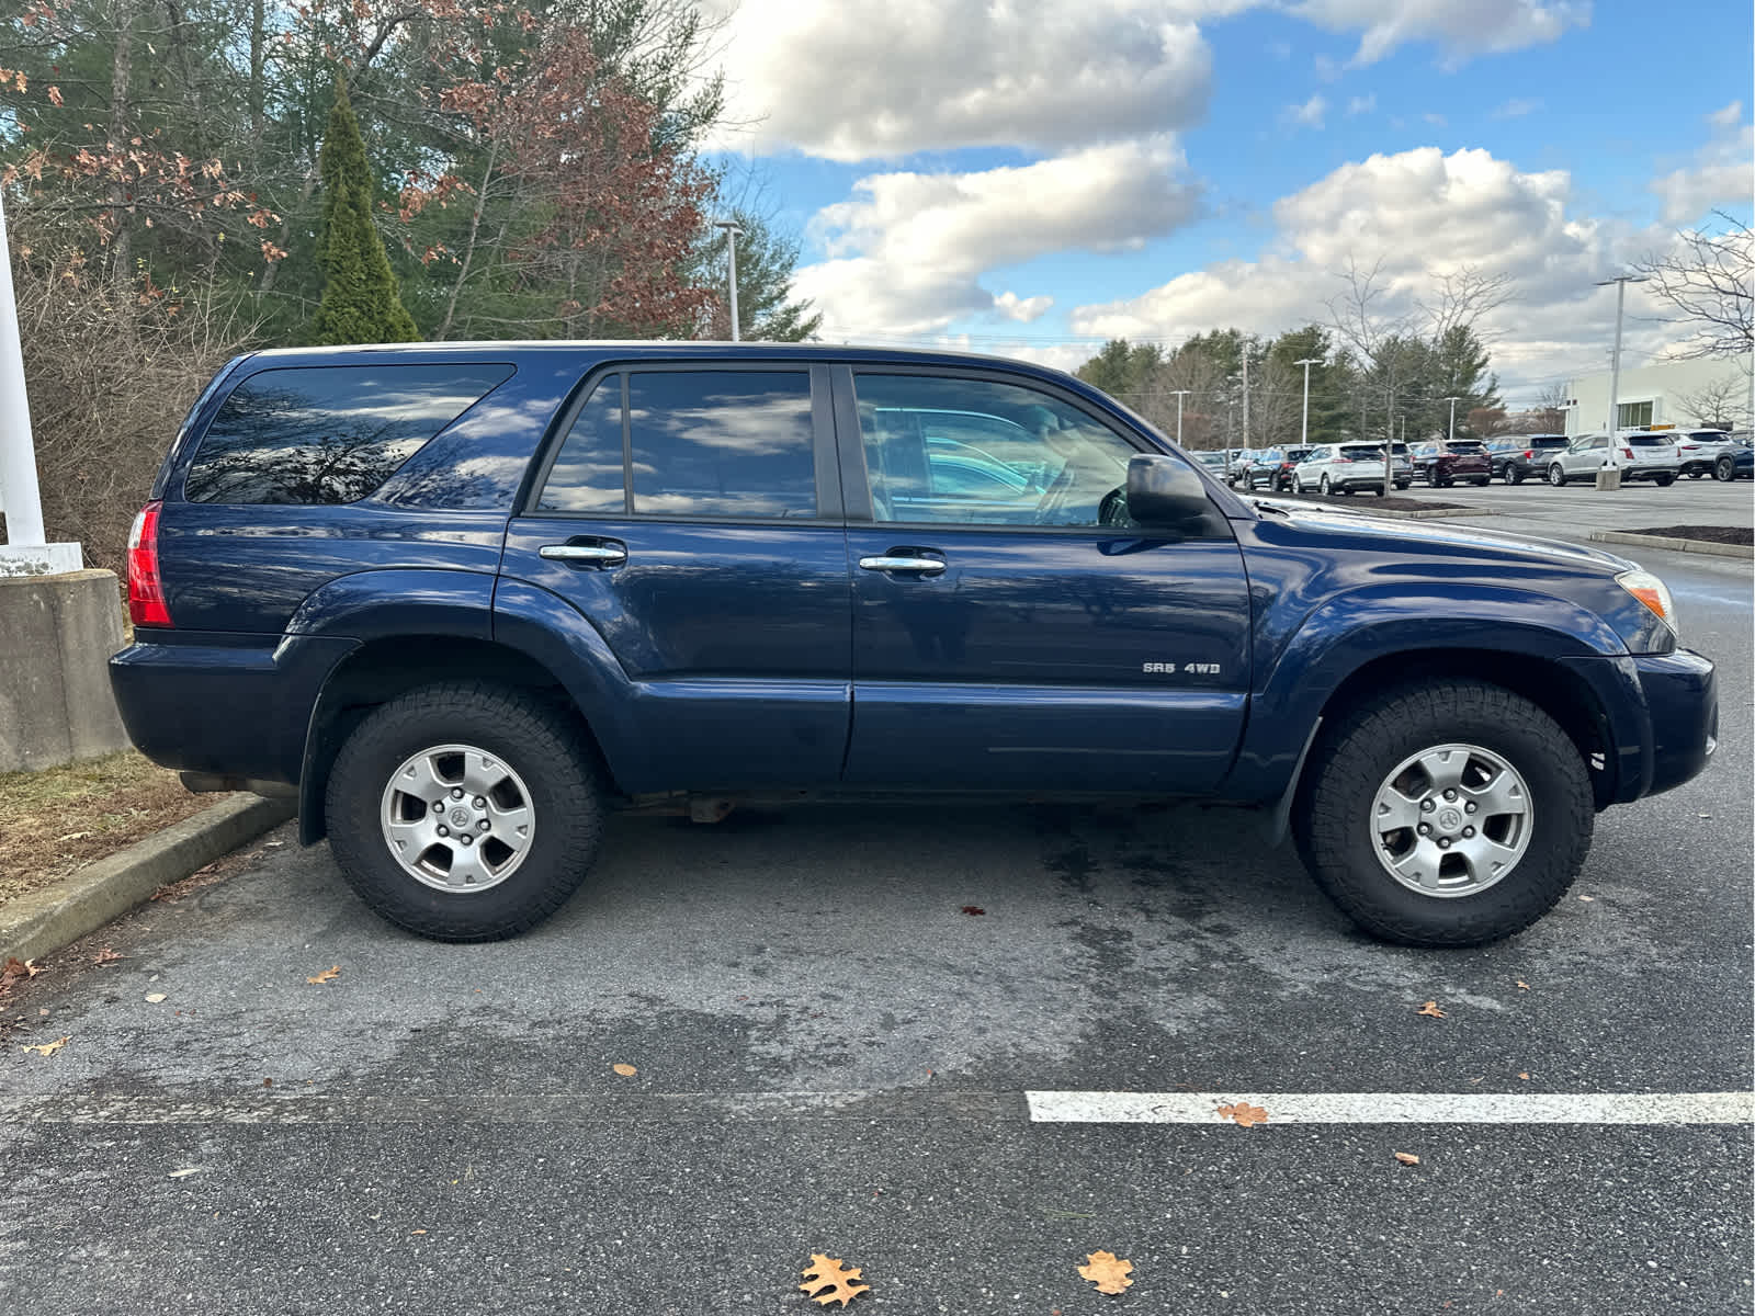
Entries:
{"type": "Polygon", "coordinates": [[[1016,384],[860,374],[855,390],[878,521],[1099,526],[1137,451],[1016,384]]]}

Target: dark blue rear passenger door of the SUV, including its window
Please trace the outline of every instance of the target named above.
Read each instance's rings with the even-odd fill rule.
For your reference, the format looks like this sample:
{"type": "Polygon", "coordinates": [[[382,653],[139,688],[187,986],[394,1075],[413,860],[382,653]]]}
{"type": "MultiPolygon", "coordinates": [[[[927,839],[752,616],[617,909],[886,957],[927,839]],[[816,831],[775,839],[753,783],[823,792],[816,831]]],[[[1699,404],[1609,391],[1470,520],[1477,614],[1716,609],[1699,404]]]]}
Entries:
{"type": "Polygon", "coordinates": [[[627,365],[588,381],[505,539],[634,683],[628,790],[834,783],[848,553],[825,367],[627,365]]]}

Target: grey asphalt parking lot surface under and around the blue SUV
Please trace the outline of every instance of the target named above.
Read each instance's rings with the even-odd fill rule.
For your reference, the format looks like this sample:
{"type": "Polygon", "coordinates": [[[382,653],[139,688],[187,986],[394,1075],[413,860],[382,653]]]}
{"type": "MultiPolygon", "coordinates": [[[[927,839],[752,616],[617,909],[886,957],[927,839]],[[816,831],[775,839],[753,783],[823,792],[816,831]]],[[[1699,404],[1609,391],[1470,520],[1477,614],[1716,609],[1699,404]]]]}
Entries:
{"type": "MultiPolygon", "coordinates": [[[[1565,537],[1751,511],[1746,483],[1416,497],[1565,537]]],[[[556,919],[465,948],[283,828],[16,997],[0,1291],[814,1311],[827,1253],[853,1309],[906,1312],[1748,1311],[1750,1126],[1694,1095],[1751,1086],[1751,572],[1632,556],[1720,663],[1718,758],[1604,814],[1560,909],[1486,949],[1365,941],[1199,807],[623,818],[556,919]],[[1128,1091],[1165,1121],[1065,1121],[1128,1091]],[[1322,1095],[1351,1121],[1288,1121],[1322,1095]],[[1255,1098],[1265,1125],[1206,1114],[1255,1098]],[[1078,1276],[1095,1249],[1127,1295],[1078,1276]]]]}

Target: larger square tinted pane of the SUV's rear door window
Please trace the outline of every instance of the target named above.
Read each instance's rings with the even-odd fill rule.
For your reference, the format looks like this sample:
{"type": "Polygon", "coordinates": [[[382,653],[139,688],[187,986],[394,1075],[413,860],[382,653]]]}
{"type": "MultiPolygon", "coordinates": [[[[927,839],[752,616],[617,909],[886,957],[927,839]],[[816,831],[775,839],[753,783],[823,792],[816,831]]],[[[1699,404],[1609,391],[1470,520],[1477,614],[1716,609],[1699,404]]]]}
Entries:
{"type": "Polygon", "coordinates": [[[816,516],[806,370],[630,374],[628,432],[635,512],[816,516]]]}

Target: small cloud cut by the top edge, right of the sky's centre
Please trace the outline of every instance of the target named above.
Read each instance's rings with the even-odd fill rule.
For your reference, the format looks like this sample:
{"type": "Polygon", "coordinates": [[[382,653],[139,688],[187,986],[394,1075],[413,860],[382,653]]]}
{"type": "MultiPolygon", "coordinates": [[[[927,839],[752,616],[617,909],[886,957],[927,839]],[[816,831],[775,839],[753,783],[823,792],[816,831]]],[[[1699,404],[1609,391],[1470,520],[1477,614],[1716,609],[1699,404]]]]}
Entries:
{"type": "Polygon", "coordinates": [[[1451,61],[1557,40],[1590,23],[1590,0],[1299,0],[1292,12],[1329,32],[1360,32],[1355,65],[1397,46],[1437,42],[1451,61]]]}

